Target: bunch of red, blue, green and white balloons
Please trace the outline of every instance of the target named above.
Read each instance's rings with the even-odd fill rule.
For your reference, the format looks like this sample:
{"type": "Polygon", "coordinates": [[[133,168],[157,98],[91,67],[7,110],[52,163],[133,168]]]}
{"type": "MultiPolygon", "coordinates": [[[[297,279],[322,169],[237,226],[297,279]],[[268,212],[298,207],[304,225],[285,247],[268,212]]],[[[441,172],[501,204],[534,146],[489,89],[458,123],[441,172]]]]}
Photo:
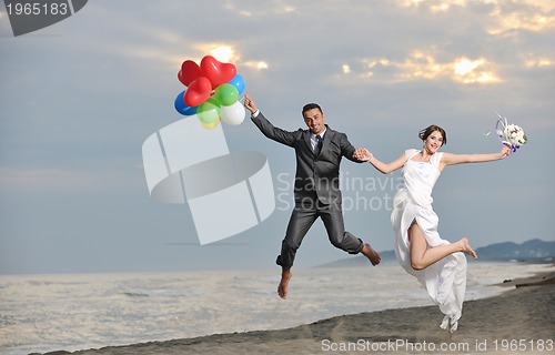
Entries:
{"type": "Polygon", "coordinates": [[[186,87],[175,98],[179,113],[196,114],[205,129],[218,126],[220,120],[232,125],[243,122],[245,110],[238,100],[245,83],[235,65],[222,63],[212,55],[204,57],[200,65],[185,60],[178,79],[186,87]]]}

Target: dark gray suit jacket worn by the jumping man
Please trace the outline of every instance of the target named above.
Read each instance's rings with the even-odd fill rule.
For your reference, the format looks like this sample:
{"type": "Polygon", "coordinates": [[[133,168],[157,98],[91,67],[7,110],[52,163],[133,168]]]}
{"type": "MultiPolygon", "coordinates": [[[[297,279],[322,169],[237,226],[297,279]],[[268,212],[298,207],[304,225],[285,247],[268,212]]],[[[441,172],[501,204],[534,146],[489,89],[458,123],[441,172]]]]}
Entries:
{"type": "Polygon", "coordinates": [[[262,112],[252,121],[265,136],[295,150],[294,195],[296,205],[316,200],[324,204],[341,204],[341,159],[345,156],[359,163],[357,160],[353,159],[355,148],[349,142],[345,133],[334,131],[326,124],[322,150],[317,156],[314,156],[310,130],[299,129],[294,132],[282,130],[268,121],[262,112]]]}

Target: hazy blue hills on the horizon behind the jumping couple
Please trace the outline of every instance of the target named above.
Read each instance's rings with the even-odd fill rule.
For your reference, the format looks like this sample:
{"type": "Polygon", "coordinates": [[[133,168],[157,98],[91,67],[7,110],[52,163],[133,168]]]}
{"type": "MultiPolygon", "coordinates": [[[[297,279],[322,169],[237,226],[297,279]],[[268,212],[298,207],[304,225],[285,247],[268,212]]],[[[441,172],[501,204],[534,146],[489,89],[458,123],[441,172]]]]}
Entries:
{"type": "MultiPolygon", "coordinates": [[[[513,242],[491,244],[476,248],[482,262],[532,262],[548,263],[555,261],[555,241],[531,240],[522,244],[513,242]]],[[[382,263],[395,261],[394,251],[380,252],[382,263]]],[[[468,258],[470,260],[470,258],[468,258]]],[[[355,257],[342,258],[334,262],[317,265],[316,267],[355,267],[369,263],[367,258],[357,255],[355,257]]]]}

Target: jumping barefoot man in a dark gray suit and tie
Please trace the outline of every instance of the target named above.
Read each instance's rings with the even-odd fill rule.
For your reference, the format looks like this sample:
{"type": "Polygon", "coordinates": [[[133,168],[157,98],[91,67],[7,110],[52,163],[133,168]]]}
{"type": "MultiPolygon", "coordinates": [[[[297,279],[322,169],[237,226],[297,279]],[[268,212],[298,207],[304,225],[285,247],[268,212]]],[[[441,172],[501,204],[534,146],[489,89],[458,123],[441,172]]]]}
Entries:
{"type": "Polygon", "coordinates": [[[291,267],[296,250],[314,221],[321,217],[330,242],[350,254],[362,253],[372,265],[380,264],[381,257],[369,244],[345,232],[342,195],[340,190],[340,163],[345,156],[353,162],[355,148],[345,133],[324,124],[324,113],[320,105],[309,103],[303,108],[303,118],[309,130],[284,131],[268,121],[251,97],[245,95],[245,108],[252,113],[252,121],[269,139],[295,150],[296,173],[294,185],[295,207],[289,221],[276,263],[282,266],[278,287],[280,297],[287,295],[291,267]]]}

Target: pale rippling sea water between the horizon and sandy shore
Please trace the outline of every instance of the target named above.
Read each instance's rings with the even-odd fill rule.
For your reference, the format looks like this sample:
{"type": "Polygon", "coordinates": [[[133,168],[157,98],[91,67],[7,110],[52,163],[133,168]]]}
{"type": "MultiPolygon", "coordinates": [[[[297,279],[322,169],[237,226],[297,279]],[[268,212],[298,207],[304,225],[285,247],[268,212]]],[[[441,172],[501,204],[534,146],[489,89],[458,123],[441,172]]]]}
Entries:
{"type": "MultiPolygon", "coordinates": [[[[466,301],[506,291],[495,286],[504,280],[553,268],[468,263],[466,301]]],[[[0,354],[278,329],[345,314],[433,304],[415,278],[393,262],[293,270],[286,301],[276,295],[279,280],[279,268],[0,275],[0,354]]]]}

